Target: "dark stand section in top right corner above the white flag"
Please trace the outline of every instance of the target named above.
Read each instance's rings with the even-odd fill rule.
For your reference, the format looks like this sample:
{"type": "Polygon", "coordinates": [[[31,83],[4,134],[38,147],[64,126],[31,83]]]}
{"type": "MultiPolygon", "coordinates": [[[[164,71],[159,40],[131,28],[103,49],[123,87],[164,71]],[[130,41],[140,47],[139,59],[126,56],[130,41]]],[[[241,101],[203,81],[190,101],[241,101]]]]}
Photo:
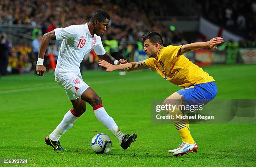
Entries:
{"type": "Polygon", "coordinates": [[[256,41],[256,2],[253,0],[200,1],[202,15],[208,20],[256,41]]]}

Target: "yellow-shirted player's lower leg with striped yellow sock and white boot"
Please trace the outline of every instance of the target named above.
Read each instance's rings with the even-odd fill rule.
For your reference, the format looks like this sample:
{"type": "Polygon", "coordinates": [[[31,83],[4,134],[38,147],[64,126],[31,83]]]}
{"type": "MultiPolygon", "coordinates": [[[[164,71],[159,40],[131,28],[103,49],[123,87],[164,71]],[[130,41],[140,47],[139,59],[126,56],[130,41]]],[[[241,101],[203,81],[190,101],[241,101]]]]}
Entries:
{"type": "MultiPolygon", "coordinates": [[[[184,102],[183,95],[179,95],[179,93],[174,92],[172,95],[167,97],[164,100],[163,105],[171,104],[171,105],[186,105],[184,102]]],[[[190,134],[189,122],[187,119],[176,119],[175,115],[182,115],[182,111],[174,110],[174,112],[166,111],[170,115],[174,115],[173,123],[176,127],[177,131],[179,132],[182,143],[173,150],[169,150],[168,152],[173,153],[174,156],[183,155],[188,152],[195,152],[197,150],[197,144],[193,140],[190,134]]]]}

